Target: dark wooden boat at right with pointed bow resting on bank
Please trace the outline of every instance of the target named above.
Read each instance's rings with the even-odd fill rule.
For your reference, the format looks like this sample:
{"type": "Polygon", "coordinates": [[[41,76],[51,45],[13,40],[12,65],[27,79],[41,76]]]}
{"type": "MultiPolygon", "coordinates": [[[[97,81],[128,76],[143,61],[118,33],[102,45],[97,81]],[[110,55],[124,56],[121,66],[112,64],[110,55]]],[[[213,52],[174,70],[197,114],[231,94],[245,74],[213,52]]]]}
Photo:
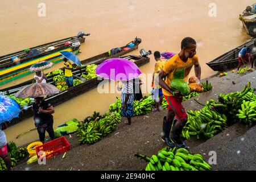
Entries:
{"type": "MultiPolygon", "coordinates": [[[[216,59],[207,63],[207,65],[213,69],[213,71],[227,71],[229,69],[234,69],[238,67],[238,53],[241,51],[243,47],[250,47],[254,50],[256,46],[256,39],[252,39],[249,42],[238,46],[237,48],[232,49],[224,53],[221,56],[218,56],[216,59]]],[[[254,51],[255,52],[255,51],[254,51]]],[[[255,53],[253,53],[255,59],[255,53]]]]}

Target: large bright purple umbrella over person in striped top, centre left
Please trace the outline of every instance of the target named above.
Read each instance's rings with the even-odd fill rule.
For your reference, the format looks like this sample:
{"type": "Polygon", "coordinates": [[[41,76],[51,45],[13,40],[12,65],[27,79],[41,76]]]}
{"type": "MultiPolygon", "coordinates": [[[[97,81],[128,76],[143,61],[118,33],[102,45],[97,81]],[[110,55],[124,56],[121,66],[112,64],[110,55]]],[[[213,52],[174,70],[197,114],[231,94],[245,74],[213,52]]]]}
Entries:
{"type": "Polygon", "coordinates": [[[138,78],[141,71],[135,63],[123,58],[108,59],[98,65],[96,74],[109,80],[131,80],[138,78]]]}

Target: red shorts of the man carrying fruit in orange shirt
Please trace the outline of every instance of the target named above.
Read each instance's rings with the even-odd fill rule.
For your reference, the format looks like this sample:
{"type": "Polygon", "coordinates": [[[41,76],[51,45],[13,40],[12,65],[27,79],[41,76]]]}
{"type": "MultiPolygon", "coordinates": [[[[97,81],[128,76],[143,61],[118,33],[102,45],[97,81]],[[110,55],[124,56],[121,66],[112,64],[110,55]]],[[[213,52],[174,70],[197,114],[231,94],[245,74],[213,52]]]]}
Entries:
{"type": "Polygon", "coordinates": [[[176,97],[176,96],[164,96],[168,102],[168,111],[171,111],[172,113],[175,114],[176,118],[179,120],[183,120],[188,118],[188,115],[183,107],[181,105],[182,102],[182,97],[176,97]]]}

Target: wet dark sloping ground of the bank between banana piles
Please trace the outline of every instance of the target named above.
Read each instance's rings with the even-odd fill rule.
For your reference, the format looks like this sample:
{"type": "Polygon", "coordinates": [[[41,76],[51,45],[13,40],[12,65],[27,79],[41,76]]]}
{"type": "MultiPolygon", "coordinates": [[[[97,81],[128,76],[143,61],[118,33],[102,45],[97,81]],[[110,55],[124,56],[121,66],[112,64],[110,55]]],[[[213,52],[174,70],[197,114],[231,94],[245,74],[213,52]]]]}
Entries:
{"type": "MultiPolygon", "coordinates": [[[[213,90],[197,96],[200,102],[210,99],[217,100],[220,93],[230,93],[241,90],[247,81],[256,88],[256,72],[246,75],[237,75],[228,72],[225,77],[212,77],[209,81],[213,90]],[[235,81],[236,84],[233,84],[235,81]]],[[[200,109],[202,106],[196,101],[184,102],[185,109],[200,109]]],[[[92,145],[79,145],[76,133],[66,136],[71,144],[71,150],[62,159],[63,154],[55,159],[47,160],[46,165],[38,163],[27,165],[24,160],[15,170],[142,170],[146,162],[134,157],[137,152],[151,156],[163,148],[165,144],[160,140],[162,119],[166,110],[159,113],[150,113],[132,119],[132,125],[127,125],[125,118],[117,129],[92,145]]],[[[217,164],[213,170],[256,170],[255,163],[255,130],[256,126],[249,127],[236,123],[208,140],[191,138],[186,141],[189,150],[195,154],[202,154],[205,160],[209,159],[209,151],[215,151],[217,164]]]]}

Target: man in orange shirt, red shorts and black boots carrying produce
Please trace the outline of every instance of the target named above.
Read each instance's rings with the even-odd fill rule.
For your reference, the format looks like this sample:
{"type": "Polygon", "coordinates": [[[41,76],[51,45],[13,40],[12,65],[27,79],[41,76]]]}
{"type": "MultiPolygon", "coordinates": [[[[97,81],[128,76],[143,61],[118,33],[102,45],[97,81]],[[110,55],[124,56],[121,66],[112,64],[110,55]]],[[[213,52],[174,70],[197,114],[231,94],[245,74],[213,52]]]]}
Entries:
{"type": "Polygon", "coordinates": [[[181,141],[180,134],[185,123],[188,121],[188,115],[181,105],[182,95],[179,91],[170,88],[172,79],[177,78],[185,82],[188,81],[188,75],[193,65],[195,66],[196,77],[201,77],[201,67],[196,55],[196,41],[192,38],[184,38],[181,42],[181,51],[173,56],[164,65],[163,70],[159,72],[159,85],[163,88],[163,94],[168,102],[168,115],[163,119],[162,140],[169,147],[187,148],[187,145],[181,141]],[[163,78],[166,81],[163,81],[163,78]],[[174,117],[176,119],[174,120],[174,117]],[[174,121],[173,125],[172,122],[174,121]],[[171,140],[169,138],[172,127],[171,140]]]}

